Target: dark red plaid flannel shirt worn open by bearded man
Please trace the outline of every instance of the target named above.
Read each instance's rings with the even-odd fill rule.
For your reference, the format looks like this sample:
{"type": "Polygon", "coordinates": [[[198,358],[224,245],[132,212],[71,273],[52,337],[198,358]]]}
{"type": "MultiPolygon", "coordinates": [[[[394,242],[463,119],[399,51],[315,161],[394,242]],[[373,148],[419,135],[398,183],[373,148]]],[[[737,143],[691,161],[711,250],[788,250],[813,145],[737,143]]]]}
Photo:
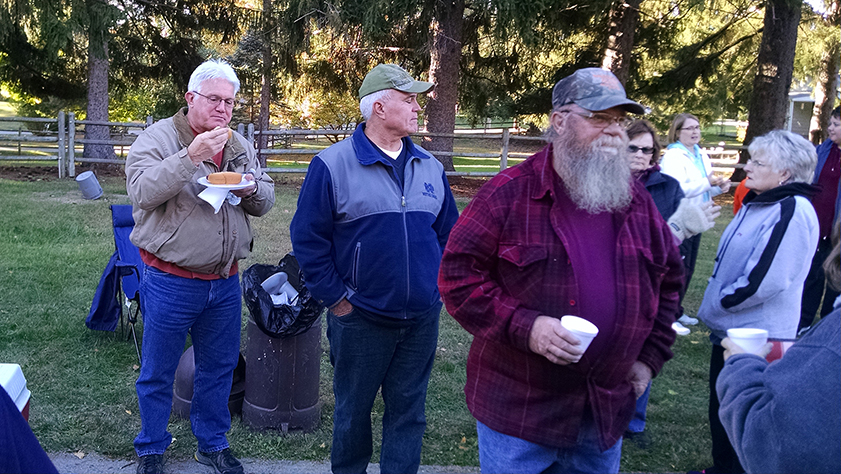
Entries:
{"type": "MultiPolygon", "coordinates": [[[[578,285],[565,229],[576,225],[557,196],[552,146],[489,181],[464,210],[444,251],[438,285],[449,313],[474,336],[467,405],[501,433],[548,446],[575,444],[587,406],[607,449],[622,436],[635,397],[627,380],[639,360],[657,374],[672,357],[683,264],[648,192],[634,183],[614,214],[617,287],[613,340],[595,359],[555,365],[528,347],[538,315],[578,313],[578,285]]],[[[558,189],[563,189],[562,186],[558,189]]]]}

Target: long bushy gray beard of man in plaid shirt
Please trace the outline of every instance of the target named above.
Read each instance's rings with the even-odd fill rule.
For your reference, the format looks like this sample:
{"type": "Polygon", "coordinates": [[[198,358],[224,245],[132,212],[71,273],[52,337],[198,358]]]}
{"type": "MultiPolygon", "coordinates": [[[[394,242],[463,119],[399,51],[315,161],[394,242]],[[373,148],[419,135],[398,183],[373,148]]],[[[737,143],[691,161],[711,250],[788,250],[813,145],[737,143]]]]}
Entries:
{"type": "Polygon", "coordinates": [[[627,139],[602,135],[589,145],[572,130],[554,143],[555,170],[575,205],[590,214],[615,212],[631,203],[627,139]]]}

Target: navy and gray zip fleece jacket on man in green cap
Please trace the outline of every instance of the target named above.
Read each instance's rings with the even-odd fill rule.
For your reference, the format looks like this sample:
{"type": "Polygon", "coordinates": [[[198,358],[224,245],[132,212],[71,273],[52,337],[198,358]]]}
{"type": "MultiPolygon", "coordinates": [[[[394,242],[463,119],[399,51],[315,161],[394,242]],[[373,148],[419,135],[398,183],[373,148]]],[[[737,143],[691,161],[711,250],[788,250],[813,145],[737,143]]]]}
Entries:
{"type": "Polygon", "coordinates": [[[413,319],[440,300],[438,267],[458,208],[429,152],[403,138],[401,189],[364,129],[312,159],[289,229],[292,247],[321,304],[346,297],[375,315],[413,319]]]}

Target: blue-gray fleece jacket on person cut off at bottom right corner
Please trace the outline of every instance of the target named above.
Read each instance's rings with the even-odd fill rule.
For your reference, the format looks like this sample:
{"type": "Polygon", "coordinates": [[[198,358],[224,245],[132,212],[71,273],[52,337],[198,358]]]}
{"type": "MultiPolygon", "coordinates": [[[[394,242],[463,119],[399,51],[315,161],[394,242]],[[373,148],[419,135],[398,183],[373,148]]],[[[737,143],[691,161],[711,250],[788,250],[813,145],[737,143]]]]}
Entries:
{"type": "Polygon", "coordinates": [[[825,316],[771,362],[736,354],[716,383],[719,417],[749,473],[841,471],[841,324],[825,316]]]}

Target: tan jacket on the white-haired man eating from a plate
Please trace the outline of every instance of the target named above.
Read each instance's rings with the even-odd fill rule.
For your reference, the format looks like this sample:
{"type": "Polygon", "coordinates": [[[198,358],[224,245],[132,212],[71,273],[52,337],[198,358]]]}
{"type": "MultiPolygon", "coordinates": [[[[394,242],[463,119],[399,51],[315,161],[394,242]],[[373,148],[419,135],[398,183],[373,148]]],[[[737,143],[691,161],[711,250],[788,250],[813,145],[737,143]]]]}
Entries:
{"type": "Polygon", "coordinates": [[[161,260],[187,270],[227,278],[234,261],[251,251],[249,215],[262,216],[274,205],[274,183],[260,168],[256,151],[234,132],[225,145],[221,169],[213,160],[198,167],[187,156],[193,132],[186,108],[146,129],[129,150],[126,188],[133,206],[131,241],[161,260]],[[216,171],[254,170],[257,191],[219,213],[199,199],[198,178],[216,171]]]}

